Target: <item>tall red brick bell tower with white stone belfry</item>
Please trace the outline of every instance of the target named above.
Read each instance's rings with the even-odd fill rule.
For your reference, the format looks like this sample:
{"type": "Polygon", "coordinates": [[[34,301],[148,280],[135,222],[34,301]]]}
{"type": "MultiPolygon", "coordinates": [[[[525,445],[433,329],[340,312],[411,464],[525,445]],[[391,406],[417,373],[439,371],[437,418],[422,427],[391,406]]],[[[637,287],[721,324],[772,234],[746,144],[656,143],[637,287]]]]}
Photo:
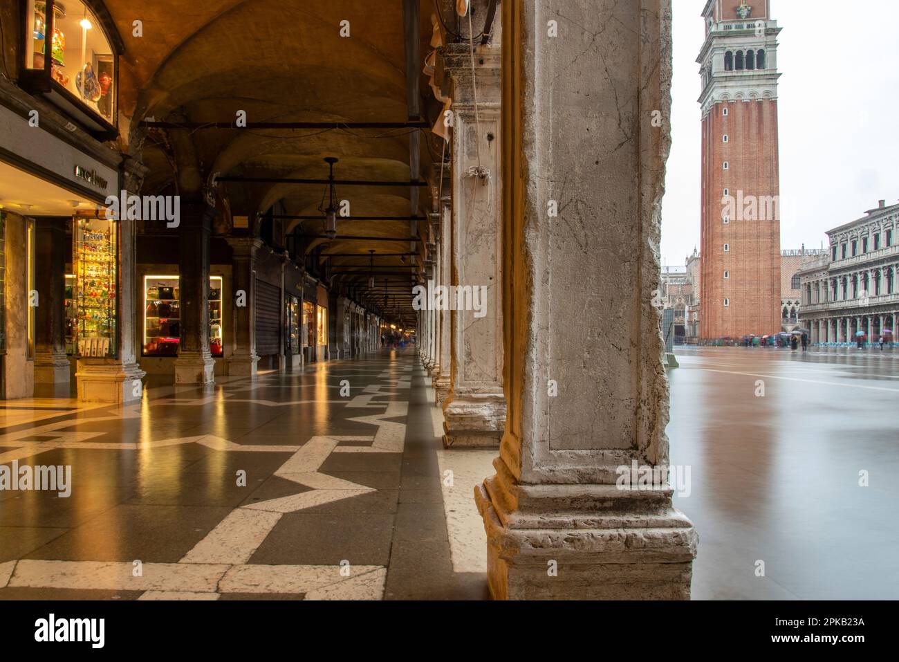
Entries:
{"type": "Polygon", "coordinates": [[[778,35],[770,0],[708,0],[699,337],[780,330],[778,35]]]}

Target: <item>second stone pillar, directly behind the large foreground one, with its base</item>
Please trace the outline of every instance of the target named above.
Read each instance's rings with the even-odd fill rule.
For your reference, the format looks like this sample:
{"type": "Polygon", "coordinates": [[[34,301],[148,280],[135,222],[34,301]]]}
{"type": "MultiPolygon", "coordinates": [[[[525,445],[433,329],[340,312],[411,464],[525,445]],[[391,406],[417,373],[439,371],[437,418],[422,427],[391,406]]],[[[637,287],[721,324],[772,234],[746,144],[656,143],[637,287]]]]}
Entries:
{"type": "MultiPolygon", "coordinates": [[[[497,20],[494,43],[476,46],[476,87],[467,42],[442,49],[453,99],[451,284],[457,295],[458,288],[467,288],[478,297],[470,300],[474,306],[459,306],[459,297],[450,297],[455,308],[450,313],[451,381],[443,402],[448,447],[496,446],[505,425],[501,282],[503,250],[511,246],[503,246],[500,216],[500,34],[497,20]]],[[[461,303],[466,304],[464,296],[461,303]]]]}

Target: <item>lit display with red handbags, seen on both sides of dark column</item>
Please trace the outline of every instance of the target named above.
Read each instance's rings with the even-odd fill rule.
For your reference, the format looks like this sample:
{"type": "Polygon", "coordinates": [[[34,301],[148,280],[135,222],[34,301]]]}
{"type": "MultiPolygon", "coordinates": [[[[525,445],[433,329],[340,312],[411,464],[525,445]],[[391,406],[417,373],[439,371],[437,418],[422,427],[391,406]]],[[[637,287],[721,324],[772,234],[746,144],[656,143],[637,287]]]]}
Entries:
{"type": "MultiPolygon", "coordinates": [[[[144,340],[141,356],[177,356],[181,340],[181,291],[177,275],[144,276],[144,340]]],[[[224,355],[222,277],[209,276],[209,353],[224,355]]]]}

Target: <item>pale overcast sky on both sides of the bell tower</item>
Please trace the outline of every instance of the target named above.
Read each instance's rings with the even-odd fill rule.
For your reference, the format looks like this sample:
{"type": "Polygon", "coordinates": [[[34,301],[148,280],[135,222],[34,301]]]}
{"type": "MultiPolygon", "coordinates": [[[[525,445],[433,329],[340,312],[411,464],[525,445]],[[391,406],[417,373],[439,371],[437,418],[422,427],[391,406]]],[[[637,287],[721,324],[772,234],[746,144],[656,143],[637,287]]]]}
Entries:
{"type": "MultiPolygon", "coordinates": [[[[705,0],[673,0],[672,153],[662,257],[699,247],[699,65],[705,0]]],[[[750,2],[752,4],[752,1],[750,2]]],[[[886,199],[899,202],[899,37],[895,0],[772,0],[779,37],[780,247],[820,247],[824,232],[886,199]]]]}

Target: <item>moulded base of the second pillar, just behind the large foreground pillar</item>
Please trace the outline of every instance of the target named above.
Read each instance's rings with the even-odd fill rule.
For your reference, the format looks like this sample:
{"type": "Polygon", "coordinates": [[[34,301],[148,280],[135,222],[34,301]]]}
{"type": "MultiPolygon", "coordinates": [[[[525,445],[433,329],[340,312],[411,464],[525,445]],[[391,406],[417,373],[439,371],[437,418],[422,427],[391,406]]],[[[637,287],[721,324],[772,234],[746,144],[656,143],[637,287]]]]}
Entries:
{"type": "Polygon", "coordinates": [[[453,393],[443,408],[443,445],[497,448],[505,415],[502,393],[453,393]]]}

